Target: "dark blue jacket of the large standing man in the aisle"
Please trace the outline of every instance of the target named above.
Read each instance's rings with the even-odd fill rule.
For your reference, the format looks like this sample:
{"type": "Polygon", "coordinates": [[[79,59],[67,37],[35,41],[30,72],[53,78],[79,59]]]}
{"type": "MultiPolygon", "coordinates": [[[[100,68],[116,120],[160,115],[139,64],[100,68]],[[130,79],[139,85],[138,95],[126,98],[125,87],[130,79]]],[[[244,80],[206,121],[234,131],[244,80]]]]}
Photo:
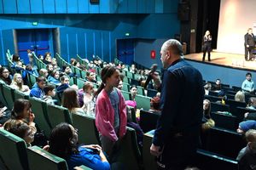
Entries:
{"type": "Polygon", "coordinates": [[[177,59],[163,72],[161,115],[153,144],[163,146],[177,133],[198,134],[203,112],[201,73],[184,59],[177,59]]]}

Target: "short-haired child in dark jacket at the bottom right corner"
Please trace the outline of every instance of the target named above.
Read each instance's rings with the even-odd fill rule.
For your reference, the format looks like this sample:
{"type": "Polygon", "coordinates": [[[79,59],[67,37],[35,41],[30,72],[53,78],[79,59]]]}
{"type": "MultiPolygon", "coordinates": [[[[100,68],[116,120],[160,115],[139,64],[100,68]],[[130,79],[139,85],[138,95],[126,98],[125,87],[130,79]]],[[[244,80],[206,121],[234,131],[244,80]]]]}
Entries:
{"type": "Polygon", "coordinates": [[[247,146],[241,149],[236,158],[239,170],[254,169],[256,165],[256,130],[248,130],[245,136],[247,146]]]}

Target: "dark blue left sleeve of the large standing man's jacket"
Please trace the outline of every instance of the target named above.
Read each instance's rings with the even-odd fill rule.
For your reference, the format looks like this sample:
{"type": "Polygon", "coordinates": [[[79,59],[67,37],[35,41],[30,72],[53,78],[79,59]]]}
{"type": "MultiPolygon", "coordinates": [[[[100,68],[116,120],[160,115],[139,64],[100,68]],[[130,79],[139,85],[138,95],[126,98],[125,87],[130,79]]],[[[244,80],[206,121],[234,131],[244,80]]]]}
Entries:
{"type": "Polygon", "coordinates": [[[181,84],[178,78],[170,72],[164,77],[164,93],[161,97],[162,111],[154,132],[153,144],[161,146],[165,139],[170,138],[173,131],[173,121],[178,111],[178,101],[181,95],[181,84]]]}

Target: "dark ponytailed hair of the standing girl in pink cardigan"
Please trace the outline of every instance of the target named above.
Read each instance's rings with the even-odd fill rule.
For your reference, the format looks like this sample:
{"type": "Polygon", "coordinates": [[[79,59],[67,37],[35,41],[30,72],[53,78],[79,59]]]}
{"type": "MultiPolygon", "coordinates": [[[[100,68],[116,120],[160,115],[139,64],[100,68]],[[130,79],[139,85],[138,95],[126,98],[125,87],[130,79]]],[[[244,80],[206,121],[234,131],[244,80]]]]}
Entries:
{"type": "Polygon", "coordinates": [[[102,89],[105,87],[105,83],[107,81],[107,78],[111,77],[114,73],[114,71],[116,71],[117,68],[115,66],[112,66],[112,65],[108,65],[108,66],[105,66],[103,69],[102,69],[102,73],[101,73],[101,77],[102,77],[102,84],[101,86],[97,89],[96,93],[94,96],[97,96],[98,94],[101,93],[102,89]]]}

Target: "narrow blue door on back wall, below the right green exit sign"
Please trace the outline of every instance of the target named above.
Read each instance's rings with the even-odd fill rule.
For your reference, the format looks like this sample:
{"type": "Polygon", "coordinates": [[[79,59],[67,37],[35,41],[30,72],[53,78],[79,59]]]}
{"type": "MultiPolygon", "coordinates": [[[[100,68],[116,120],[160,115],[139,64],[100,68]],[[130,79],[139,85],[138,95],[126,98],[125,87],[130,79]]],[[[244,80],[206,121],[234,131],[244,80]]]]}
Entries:
{"type": "Polygon", "coordinates": [[[126,65],[131,65],[134,61],[134,40],[117,40],[117,57],[126,65]]]}

